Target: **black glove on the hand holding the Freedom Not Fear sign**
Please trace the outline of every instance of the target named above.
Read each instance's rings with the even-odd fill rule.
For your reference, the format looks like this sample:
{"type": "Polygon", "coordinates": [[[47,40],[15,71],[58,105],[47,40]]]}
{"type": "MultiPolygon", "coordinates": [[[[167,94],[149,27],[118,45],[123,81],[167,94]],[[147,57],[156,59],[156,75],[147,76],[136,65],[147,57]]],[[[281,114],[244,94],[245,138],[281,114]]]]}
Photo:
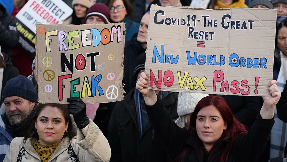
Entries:
{"type": "Polygon", "coordinates": [[[69,114],[73,114],[75,123],[79,129],[85,128],[89,125],[90,120],[86,113],[86,104],[79,97],[71,97],[67,99],[69,102],[68,111],[69,114]]]}

